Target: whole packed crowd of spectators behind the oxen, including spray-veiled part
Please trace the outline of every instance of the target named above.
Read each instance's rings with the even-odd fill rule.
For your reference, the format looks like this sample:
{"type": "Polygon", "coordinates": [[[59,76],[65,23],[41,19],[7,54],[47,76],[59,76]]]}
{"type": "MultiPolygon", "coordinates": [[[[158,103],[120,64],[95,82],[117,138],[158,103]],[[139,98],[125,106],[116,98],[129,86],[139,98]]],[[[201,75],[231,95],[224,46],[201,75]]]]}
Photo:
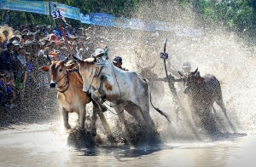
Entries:
{"type": "Polygon", "coordinates": [[[49,86],[49,74],[38,71],[38,67],[48,64],[46,55],[52,60],[63,60],[71,53],[84,59],[90,57],[96,47],[108,44],[114,55],[136,55],[137,68],[143,66],[143,58],[154,59],[157,55],[154,46],[158,40],[151,32],[67,25],[62,30],[61,26],[0,26],[0,107],[17,107],[22,99],[30,102],[21,106],[38,106],[32,101],[38,97],[43,98],[38,100],[40,103],[47,99],[44,95],[50,92],[45,90],[49,86]]]}

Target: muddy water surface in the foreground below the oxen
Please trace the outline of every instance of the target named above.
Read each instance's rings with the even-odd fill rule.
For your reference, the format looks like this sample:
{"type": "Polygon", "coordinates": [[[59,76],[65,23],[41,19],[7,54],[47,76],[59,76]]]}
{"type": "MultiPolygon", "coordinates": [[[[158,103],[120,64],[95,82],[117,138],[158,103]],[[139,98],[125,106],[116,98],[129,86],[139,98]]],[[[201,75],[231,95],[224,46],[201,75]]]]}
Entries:
{"type": "Polygon", "coordinates": [[[223,141],[75,150],[50,124],[0,132],[0,166],[254,166],[256,133],[223,141]]]}

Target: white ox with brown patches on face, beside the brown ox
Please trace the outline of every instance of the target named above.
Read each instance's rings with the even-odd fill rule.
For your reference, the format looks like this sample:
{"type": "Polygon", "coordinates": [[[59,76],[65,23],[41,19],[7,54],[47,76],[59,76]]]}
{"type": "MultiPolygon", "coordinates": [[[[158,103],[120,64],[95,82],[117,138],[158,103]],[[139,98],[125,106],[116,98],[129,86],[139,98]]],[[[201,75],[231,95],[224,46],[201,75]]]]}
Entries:
{"type": "MultiPolygon", "coordinates": [[[[121,121],[124,120],[123,108],[137,119],[147,134],[155,133],[155,126],[149,115],[148,81],[141,78],[136,72],[123,71],[103,55],[100,60],[104,63],[96,63],[96,58],[79,60],[79,72],[83,78],[83,91],[91,91],[92,98],[102,107],[102,98],[114,104],[115,112],[119,114],[121,121]],[[117,106],[118,105],[118,106],[117,106]],[[122,120],[123,119],[123,120],[122,120]]],[[[164,112],[157,109],[160,114],[170,119],[164,112]]]]}

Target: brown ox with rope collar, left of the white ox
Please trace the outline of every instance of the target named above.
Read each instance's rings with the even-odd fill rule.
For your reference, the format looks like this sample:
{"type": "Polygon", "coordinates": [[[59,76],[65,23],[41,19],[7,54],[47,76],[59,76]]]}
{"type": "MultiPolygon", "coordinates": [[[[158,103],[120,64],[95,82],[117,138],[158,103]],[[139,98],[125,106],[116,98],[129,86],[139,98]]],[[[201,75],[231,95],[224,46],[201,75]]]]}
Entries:
{"type": "MultiPolygon", "coordinates": [[[[79,115],[79,129],[84,129],[84,120],[86,115],[86,104],[91,101],[90,95],[84,94],[83,80],[79,76],[79,72],[73,72],[70,69],[74,68],[75,64],[67,63],[69,57],[61,61],[51,61],[50,66],[41,66],[39,70],[43,72],[50,72],[51,83],[49,88],[56,88],[58,90],[57,98],[61,104],[64,126],[70,130],[68,123],[68,113],[77,112],[79,115]],[[67,64],[66,64],[67,63],[67,64]]],[[[98,107],[93,107],[92,118],[92,135],[96,135],[96,113],[102,121],[102,125],[107,132],[108,138],[113,139],[113,135],[108,126],[108,122],[98,107]]]]}

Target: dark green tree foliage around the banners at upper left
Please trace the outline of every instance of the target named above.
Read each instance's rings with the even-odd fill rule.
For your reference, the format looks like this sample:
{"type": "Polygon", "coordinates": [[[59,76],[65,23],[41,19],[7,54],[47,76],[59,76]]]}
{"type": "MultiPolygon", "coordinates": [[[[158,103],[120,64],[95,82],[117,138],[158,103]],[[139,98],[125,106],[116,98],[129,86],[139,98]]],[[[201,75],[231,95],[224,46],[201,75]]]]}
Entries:
{"type": "MultiPolygon", "coordinates": [[[[131,12],[136,9],[139,0],[55,0],[56,3],[63,3],[69,6],[79,8],[84,14],[89,13],[108,13],[116,16],[129,17],[131,12]]],[[[5,10],[0,10],[2,21],[5,10]]],[[[55,26],[55,20],[51,16],[44,14],[35,14],[19,11],[11,11],[10,21],[12,25],[52,25],[55,26]]],[[[73,26],[81,26],[80,21],[67,19],[73,26]]]]}

